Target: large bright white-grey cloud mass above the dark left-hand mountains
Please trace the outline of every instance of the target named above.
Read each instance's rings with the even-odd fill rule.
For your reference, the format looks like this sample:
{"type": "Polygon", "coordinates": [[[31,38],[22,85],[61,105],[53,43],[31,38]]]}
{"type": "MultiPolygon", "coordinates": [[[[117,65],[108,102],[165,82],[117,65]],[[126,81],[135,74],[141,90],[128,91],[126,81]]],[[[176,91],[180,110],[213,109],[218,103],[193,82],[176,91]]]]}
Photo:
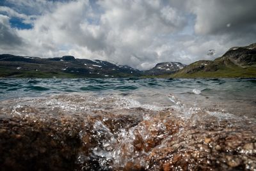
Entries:
{"type": "Polygon", "coordinates": [[[31,46],[24,47],[28,55],[76,54],[141,68],[145,61],[158,60],[152,43],[182,29],[186,20],[177,9],[156,1],[97,1],[95,6],[69,1],[56,4],[33,24],[33,29],[18,31],[31,46]]]}

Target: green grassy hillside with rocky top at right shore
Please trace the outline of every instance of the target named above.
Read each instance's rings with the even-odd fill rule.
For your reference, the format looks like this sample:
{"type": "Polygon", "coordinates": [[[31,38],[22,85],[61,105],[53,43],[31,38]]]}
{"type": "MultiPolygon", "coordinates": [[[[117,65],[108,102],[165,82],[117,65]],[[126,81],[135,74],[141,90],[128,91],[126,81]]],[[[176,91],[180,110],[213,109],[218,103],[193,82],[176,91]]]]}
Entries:
{"type": "Polygon", "coordinates": [[[201,60],[170,75],[172,78],[256,77],[256,43],[232,47],[213,61],[201,60]]]}

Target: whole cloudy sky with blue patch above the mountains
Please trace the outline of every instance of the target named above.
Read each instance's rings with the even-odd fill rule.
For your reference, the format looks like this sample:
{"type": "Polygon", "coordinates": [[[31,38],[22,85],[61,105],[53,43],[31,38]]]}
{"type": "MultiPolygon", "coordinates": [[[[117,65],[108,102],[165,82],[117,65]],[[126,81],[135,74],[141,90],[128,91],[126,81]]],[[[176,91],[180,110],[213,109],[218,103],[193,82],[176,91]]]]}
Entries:
{"type": "Polygon", "coordinates": [[[0,54],[100,59],[147,70],[256,42],[255,0],[1,0],[0,54]]]}

